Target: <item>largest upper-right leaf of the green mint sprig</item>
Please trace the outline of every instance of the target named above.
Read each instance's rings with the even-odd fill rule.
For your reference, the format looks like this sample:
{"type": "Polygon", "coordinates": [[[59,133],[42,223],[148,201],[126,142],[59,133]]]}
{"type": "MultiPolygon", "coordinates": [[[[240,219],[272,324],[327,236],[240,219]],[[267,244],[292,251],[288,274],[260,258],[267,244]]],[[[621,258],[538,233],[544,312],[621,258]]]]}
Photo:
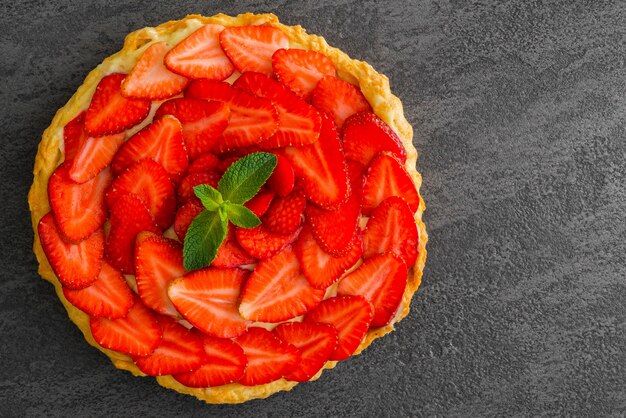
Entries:
{"type": "Polygon", "coordinates": [[[222,176],[217,189],[225,201],[243,204],[252,199],[276,167],[276,156],[254,152],[235,161],[222,176]]]}

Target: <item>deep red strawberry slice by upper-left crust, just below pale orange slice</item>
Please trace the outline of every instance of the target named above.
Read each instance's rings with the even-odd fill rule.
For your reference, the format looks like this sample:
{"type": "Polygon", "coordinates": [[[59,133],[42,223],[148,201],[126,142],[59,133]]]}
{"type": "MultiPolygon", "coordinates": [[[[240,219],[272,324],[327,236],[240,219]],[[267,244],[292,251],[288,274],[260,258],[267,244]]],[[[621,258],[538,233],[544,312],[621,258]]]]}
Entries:
{"type": "Polygon", "coordinates": [[[125,131],[144,120],[150,100],[122,96],[120,86],[126,74],[109,74],[100,80],[85,114],[89,135],[111,135],[125,131]]]}

